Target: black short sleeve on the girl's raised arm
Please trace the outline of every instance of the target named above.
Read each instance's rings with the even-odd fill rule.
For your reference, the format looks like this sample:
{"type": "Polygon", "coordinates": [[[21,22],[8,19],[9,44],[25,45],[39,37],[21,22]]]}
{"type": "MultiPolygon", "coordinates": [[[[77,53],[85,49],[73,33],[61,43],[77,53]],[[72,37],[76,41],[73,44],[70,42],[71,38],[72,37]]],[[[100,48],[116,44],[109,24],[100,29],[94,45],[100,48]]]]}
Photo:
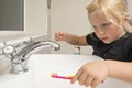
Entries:
{"type": "Polygon", "coordinates": [[[99,41],[99,38],[97,37],[95,33],[90,33],[86,36],[86,41],[88,45],[94,45],[99,41]]]}

